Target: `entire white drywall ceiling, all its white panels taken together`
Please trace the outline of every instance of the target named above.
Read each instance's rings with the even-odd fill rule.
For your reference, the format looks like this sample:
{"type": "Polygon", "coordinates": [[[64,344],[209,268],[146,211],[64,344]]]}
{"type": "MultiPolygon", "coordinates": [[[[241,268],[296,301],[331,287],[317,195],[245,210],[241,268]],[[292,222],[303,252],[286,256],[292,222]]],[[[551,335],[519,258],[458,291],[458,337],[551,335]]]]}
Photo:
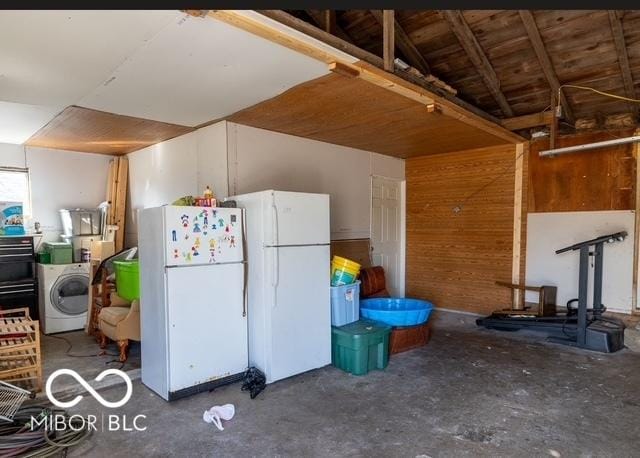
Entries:
{"type": "Polygon", "coordinates": [[[22,143],[69,105],[196,126],[327,73],[179,11],[3,11],[0,142],[22,143]]]}

